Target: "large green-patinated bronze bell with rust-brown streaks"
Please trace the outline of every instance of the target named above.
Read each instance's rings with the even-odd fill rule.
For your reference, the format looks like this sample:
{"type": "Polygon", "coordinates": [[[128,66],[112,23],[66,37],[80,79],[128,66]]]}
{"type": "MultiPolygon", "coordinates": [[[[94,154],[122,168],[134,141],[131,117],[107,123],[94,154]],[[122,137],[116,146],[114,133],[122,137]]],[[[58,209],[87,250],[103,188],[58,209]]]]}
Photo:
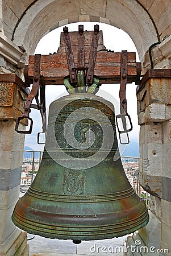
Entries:
{"type": "Polygon", "coordinates": [[[118,156],[114,106],[90,93],[52,102],[39,171],[12,221],[48,238],[101,240],[147,225],[118,156]]]}

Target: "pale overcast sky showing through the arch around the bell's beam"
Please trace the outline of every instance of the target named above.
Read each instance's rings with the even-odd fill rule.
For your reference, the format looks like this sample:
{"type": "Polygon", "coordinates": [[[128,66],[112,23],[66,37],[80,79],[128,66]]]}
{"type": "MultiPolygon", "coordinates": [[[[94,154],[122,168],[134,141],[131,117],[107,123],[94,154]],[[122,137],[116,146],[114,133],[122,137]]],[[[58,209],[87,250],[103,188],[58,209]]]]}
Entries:
{"type": "MultiPolygon", "coordinates": [[[[128,52],[136,52],[136,48],[132,39],[128,34],[118,28],[110,26],[103,23],[93,23],[93,22],[81,22],[66,25],[70,31],[78,31],[78,24],[84,24],[84,30],[93,30],[94,24],[99,24],[99,29],[103,31],[103,42],[106,49],[111,49],[115,52],[120,52],[122,50],[127,50],[128,52]]],[[[40,53],[41,55],[46,55],[49,53],[57,52],[60,44],[60,33],[63,31],[63,27],[57,28],[45,35],[40,42],[37,44],[35,54],[40,53]]],[[[139,61],[139,57],[136,52],[136,61],[139,61]]],[[[101,89],[105,92],[111,94],[112,97],[116,99],[119,106],[119,85],[117,84],[104,84],[101,89]]],[[[66,92],[64,85],[47,85],[45,88],[45,97],[47,110],[49,104],[56,98],[59,98],[60,94],[66,92]]],[[[105,97],[110,100],[110,95],[107,94],[105,97]]],[[[133,124],[133,130],[129,133],[130,141],[139,141],[139,126],[137,125],[137,106],[136,106],[136,85],[127,85],[127,111],[131,115],[131,120],[133,124]]],[[[114,102],[116,104],[116,101],[114,102]]],[[[117,104],[116,104],[117,105],[117,104]]],[[[115,106],[115,114],[117,113],[118,106],[115,106]]],[[[42,151],[44,145],[37,144],[37,133],[41,131],[41,117],[38,110],[32,109],[30,117],[34,120],[34,126],[31,135],[26,135],[25,146],[29,146],[35,151],[42,151]]]]}

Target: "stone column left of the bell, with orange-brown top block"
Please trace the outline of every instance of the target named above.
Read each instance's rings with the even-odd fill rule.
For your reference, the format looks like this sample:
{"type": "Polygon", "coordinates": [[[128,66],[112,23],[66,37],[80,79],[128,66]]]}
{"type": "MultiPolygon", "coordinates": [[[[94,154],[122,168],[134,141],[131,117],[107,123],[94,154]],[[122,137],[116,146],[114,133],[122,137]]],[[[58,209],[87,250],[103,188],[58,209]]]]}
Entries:
{"type": "MultiPolygon", "coordinates": [[[[15,74],[0,75],[0,255],[28,255],[27,233],[11,221],[19,198],[24,135],[15,132],[27,90],[15,74]]],[[[21,123],[24,129],[24,123],[21,123]]]]}

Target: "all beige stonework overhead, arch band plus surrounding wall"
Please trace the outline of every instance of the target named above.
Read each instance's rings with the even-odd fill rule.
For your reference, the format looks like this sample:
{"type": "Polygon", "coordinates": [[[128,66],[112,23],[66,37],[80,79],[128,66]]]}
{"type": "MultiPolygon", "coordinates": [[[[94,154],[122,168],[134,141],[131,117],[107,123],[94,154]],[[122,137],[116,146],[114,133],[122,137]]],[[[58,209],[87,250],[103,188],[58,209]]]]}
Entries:
{"type": "Polygon", "coordinates": [[[162,1],[162,4],[159,0],[37,0],[32,5],[33,2],[23,0],[18,5],[16,0],[1,0],[1,28],[9,39],[14,39],[17,46],[23,46],[28,54],[34,52],[37,42],[47,32],[79,21],[104,22],[122,28],[134,40],[141,60],[148,47],[159,40],[157,34],[160,39],[171,34],[169,0],[162,1]]]}

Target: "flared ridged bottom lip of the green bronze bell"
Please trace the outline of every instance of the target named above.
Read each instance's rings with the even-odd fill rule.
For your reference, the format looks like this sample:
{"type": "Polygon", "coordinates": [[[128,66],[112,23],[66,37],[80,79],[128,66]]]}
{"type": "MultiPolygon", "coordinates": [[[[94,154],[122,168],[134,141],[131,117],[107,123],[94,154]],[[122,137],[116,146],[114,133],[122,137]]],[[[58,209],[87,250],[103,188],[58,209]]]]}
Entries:
{"type": "MultiPolygon", "coordinates": [[[[122,226],[120,230],[118,230],[118,226],[120,227],[120,223],[115,226],[115,228],[112,228],[111,225],[105,225],[104,226],[84,226],[80,227],[74,226],[72,228],[60,226],[59,229],[56,229],[56,225],[54,226],[54,230],[52,232],[51,226],[48,224],[47,227],[42,227],[39,225],[30,226],[31,224],[28,224],[27,222],[24,222],[25,225],[22,225],[19,222],[19,218],[16,218],[15,216],[15,210],[14,214],[12,214],[12,221],[16,226],[18,226],[20,229],[25,230],[28,233],[31,234],[37,234],[42,237],[47,238],[58,238],[61,240],[103,240],[108,238],[114,238],[114,237],[122,237],[126,236],[127,234],[131,234],[139,230],[140,228],[143,228],[145,225],[148,224],[149,221],[149,214],[147,209],[144,210],[143,217],[138,216],[138,220],[132,224],[132,220],[130,220],[130,224],[122,226]],[[91,229],[90,229],[91,228],[91,229]],[[102,229],[103,228],[103,229],[102,229]]],[[[25,219],[26,220],[26,219],[25,219]]],[[[35,224],[34,221],[32,223],[35,224]]],[[[42,224],[41,224],[42,225],[42,224]]]]}

